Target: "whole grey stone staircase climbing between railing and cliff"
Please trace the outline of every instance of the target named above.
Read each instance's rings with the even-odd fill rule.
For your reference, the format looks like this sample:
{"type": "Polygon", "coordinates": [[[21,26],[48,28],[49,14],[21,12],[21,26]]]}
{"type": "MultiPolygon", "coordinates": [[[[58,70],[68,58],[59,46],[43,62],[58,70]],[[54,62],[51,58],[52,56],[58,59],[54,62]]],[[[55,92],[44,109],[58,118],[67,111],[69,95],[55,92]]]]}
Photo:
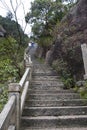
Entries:
{"type": "Polygon", "coordinates": [[[64,90],[60,77],[36,63],[20,130],[87,130],[87,100],[64,90]]]}

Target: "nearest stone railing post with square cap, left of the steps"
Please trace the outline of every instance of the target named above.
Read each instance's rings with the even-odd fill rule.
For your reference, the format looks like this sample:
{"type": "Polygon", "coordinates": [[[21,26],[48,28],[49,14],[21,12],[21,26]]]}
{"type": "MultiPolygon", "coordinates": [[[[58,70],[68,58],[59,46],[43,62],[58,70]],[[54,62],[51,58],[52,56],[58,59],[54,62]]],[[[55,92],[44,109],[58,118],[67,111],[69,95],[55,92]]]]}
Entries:
{"type": "Polygon", "coordinates": [[[16,106],[13,119],[11,120],[12,124],[15,124],[16,130],[20,130],[20,85],[18,83],[9,84],[9,97],[15,95],[16,97],[16,106]]]}

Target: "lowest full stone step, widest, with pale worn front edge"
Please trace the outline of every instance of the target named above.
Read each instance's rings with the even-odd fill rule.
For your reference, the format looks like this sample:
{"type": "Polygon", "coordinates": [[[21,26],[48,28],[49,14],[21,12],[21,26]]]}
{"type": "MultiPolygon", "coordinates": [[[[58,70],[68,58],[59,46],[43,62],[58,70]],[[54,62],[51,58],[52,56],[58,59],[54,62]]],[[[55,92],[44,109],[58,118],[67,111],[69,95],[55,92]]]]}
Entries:
{"type": "Polygon", "coordinates": [[[87,115],[72,116],[38,116],[21,118],[24,127],[60,128],[60,127],[87,127],[87,115]]]}

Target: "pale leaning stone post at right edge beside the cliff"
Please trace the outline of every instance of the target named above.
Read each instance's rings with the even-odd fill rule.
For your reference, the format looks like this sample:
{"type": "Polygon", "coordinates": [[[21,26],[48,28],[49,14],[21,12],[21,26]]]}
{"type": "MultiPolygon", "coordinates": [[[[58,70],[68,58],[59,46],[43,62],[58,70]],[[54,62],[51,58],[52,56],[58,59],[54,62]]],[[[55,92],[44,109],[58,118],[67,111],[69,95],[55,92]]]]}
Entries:
{"type": "Polygon", "coordinates": [[[85,70],[84,79],[87,79],[87,45],[85,43],[82,44],[81,49],[82,49],[82,57],[83,57],[84,70],[85,70]]]}

